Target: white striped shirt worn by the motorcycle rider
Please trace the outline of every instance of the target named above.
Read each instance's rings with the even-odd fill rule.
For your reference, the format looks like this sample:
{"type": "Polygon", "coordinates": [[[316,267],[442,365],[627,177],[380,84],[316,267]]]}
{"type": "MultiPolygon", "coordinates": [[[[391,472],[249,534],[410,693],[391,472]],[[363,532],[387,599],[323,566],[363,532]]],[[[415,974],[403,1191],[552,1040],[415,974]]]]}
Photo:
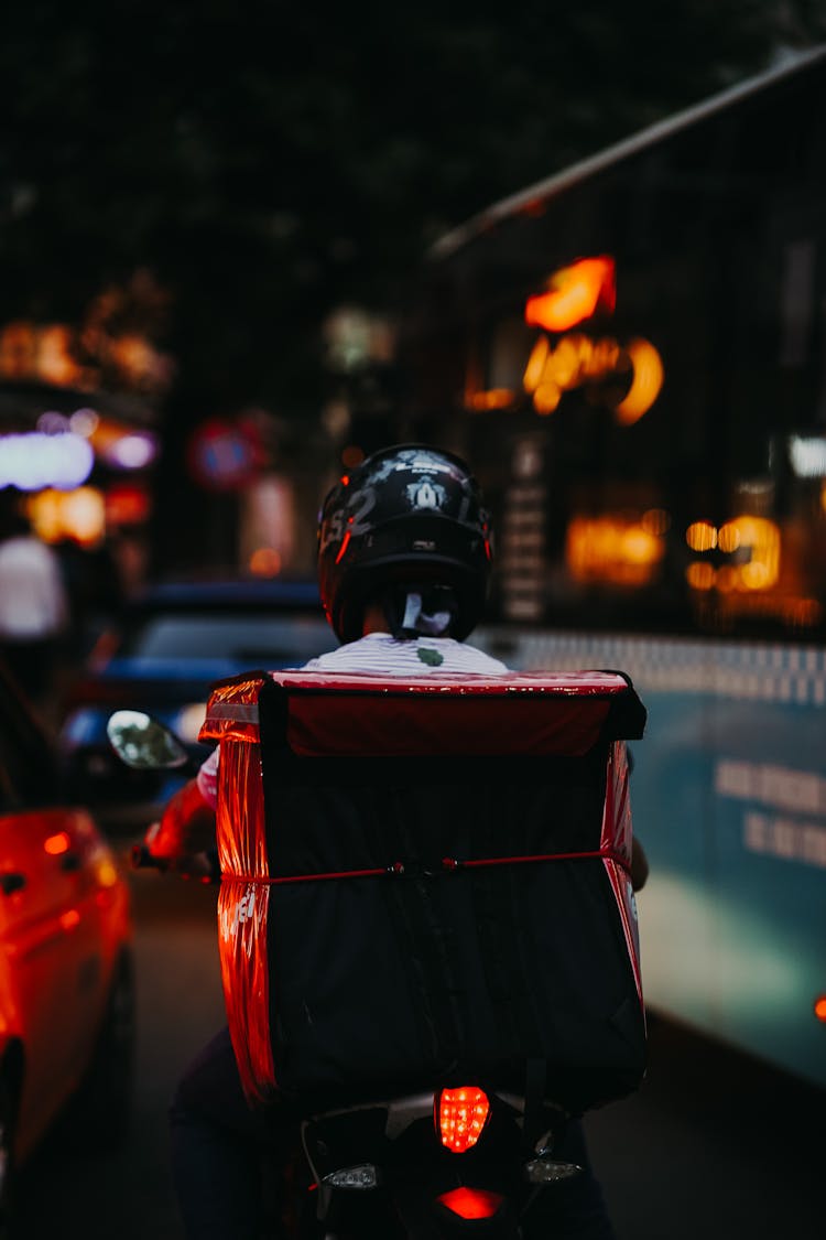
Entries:
{"type": "MultiPolygon", "coordinates": [[[[358,641],[311,658],[302,671],[373,672],[375,676],[428,676],[433,672],[504,676],[510,668],[476,646],[453,637],[394,637],[389,632],[369,632],[358,641]]],[[[213,749],[198,771],[198,789],[204,801],[218,801],[218,748],[213,749]]]]}

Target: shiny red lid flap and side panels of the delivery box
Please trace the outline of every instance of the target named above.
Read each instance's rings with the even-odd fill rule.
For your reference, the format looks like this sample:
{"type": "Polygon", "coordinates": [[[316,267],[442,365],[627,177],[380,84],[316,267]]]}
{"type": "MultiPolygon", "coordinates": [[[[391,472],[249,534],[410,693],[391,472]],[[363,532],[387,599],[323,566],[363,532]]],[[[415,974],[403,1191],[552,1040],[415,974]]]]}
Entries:
{"type": "MultiPolygon", "coordinates": [[[[219,951],[228,1023],[244,1090],[276,1086],[270,1030],[266,918],[277,887],[269,873],[258,702],[280,687],[285,737],[298,758],[406,755],[571,755],[603,735],[612,707],[633,694],[612,672],[510,673],[419,678],[359,673],[250,673],[218,684],[201,740],[220,743],[218,849],[219,951]]],[[[639,990],[639,946],[630,857],[628,770],[622,740],[609,749],[601,851],[620,911],[639,990]]],[[[641,997],[641,991],[640,991],[641,997]]]]}

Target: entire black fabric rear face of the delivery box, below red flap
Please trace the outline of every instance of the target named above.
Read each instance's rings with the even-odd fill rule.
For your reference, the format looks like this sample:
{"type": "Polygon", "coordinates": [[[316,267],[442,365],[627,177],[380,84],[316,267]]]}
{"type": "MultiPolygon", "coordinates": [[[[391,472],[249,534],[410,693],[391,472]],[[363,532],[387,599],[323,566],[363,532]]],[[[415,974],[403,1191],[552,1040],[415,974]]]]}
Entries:
{"type": "MultiPolygon", "coordinates": [[[[280,696],[279,696],[280,697],[280,696]]],[[[573,1112],[635,1089],[643,1014],[599,858],[607,743],[581,759],[296,759],[261,712],[270,873],[385,869],[271,890],[276,1079],[324,1105],[442,1084],[521,1089],[544,1060],[573,1112]]]]}

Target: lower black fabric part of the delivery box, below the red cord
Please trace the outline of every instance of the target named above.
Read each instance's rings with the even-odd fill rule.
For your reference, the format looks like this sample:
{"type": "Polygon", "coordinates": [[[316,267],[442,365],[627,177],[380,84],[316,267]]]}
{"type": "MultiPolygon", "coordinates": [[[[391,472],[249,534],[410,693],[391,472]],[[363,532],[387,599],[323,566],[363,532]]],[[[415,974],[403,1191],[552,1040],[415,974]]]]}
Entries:
{"type": "Polygon", "coordinates": [[[634,1089],[643,1019],[603,879],[599,862],[582,862],[279,889],[269,950],[280,1085],[328,1102],[435,1078],[520,1087],[524,1061],[539,1058],[549,1097],[572,1111],[634,1089]],[[504,924],[521,928],[508,941],[523,957],[530,1022],[514,1016],[513,985],[489,985],[473,915],[480,883],[494,887],[504,924]],[[396,893],[415,906],[409,919],[391,908],[396,893]]]}

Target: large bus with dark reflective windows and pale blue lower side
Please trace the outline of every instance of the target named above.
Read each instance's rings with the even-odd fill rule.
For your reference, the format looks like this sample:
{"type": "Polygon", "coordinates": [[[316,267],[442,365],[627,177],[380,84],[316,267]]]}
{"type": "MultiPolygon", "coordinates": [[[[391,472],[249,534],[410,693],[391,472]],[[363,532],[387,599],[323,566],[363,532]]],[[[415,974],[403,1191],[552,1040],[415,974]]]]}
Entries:
{"type": "Polygon", "coordinates": [[[497,531],[478,644],[619,668],[651,1012],[826,1086],[826,47],[442,237],[404,434],[497,531]]]}

